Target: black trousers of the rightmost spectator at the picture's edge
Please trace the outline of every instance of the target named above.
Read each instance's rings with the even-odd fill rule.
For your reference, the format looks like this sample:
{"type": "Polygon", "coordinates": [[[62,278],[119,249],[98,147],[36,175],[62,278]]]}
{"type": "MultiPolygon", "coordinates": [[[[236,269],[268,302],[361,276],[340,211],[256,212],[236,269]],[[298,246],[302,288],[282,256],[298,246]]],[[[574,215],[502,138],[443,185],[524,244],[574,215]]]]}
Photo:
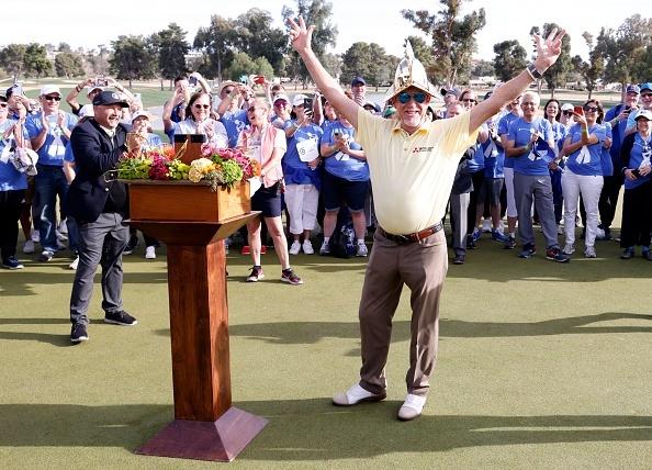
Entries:
{"type": "Polygon", "coordinates": [[[622,198],[622,228],[620,246],[650,246],[652,227],[652,183],[645,182],[633,189],[626,189],[622,198]]]}

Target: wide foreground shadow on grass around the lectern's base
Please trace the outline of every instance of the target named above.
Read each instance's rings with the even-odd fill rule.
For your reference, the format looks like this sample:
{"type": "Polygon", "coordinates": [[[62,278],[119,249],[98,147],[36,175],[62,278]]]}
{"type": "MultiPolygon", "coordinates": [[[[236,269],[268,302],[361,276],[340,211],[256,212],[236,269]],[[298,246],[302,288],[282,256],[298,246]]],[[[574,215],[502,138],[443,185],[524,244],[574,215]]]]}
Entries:
{"type": "MultiPolygon", "coordinates": [[[[234,403],[270,421],[238,460],[334,460],[479,446],[652,440],[652,416],[424,415],[401,423],[395,418],[400,404],[339,409],[327,399],[234,403]]],[[[134,450],[172,417],[171,405],[4,404],[0,447],[134,450]]]]}

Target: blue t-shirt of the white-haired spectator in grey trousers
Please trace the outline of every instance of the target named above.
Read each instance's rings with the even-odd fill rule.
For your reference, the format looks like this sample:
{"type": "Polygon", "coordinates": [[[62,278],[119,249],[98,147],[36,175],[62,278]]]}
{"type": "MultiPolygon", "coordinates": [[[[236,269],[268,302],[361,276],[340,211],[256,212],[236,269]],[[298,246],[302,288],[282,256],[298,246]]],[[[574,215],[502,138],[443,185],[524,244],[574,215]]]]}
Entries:
{"type": "MultiPolygon", "coordinates": [[[[507,139],[514,142],[514,147],[525,147],[530,143],[531,136],[538,132],[544,142],[552,142],[552,126],[550,121],[542,118],[536,119],[532,122],[527,122],[519,118],[509,125],[507,139]]],[[[509,159],[509,158],[508,158],[509,159]]],[[[514,172],[528,176],[550,176],[548,164],[551,159],[548,153],[540,154],[538,152],[529,152],[518,157],[512,157],[514,160],[514,172]]]]}

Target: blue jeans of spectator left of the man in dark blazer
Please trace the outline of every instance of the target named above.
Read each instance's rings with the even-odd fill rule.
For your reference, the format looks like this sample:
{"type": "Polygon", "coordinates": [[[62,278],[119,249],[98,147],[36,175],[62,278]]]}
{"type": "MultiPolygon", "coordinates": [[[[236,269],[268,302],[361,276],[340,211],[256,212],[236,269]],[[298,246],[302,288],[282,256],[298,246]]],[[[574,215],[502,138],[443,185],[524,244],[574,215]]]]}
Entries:
{"type": "Polygon", "coordinates": [[[38,232],[41,234],[41,246],[44,250],[57,250],[57,195],[59,203],[64,202],[68,192],[68,182],[61,167],[50,165],[38,165],[38,174],[35,177],[36,212],[34,219],[38,217],[38,232]]]}

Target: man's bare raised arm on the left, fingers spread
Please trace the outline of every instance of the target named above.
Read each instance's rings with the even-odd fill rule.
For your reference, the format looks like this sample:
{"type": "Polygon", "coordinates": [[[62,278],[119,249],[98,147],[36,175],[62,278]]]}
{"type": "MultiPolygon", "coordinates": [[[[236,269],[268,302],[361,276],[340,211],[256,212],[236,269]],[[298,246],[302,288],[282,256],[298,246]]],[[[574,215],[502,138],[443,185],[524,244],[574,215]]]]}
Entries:
{"type": "Polygon", "coordinates": [[[344,93],[339,83],[330,77],[313,52],[311,43],[315,26],[306,27],[302,16],[299,16],[299,23],[292,19],[288,19],[288,23],[291,26],[290,40],[292,41],[292,47],[303,59],[317,88],[324,93],[328,102],[342,113],[348,122],[353,124],[353,127],[358,127],[358,104],[344,93]]]}

